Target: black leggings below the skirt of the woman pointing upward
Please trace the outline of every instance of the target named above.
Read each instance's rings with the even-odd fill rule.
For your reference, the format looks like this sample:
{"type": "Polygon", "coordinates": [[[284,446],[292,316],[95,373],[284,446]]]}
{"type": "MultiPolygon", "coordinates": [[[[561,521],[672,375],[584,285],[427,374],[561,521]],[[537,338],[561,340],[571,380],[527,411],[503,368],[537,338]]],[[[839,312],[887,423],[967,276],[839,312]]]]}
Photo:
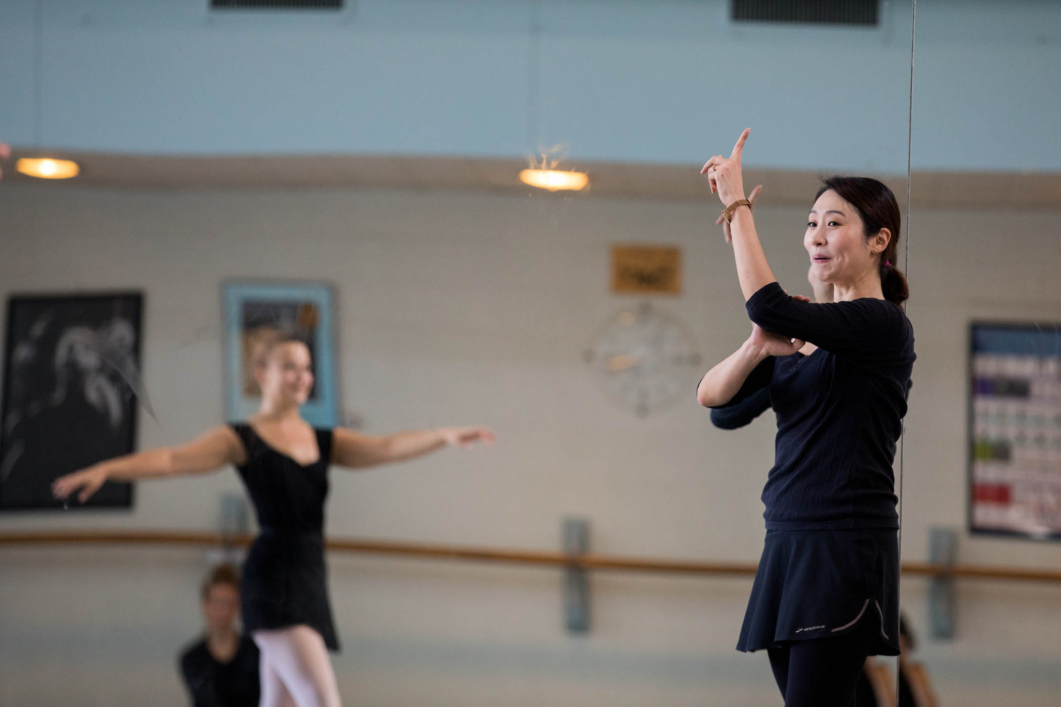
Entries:
{"type": "Polygon", "coordinates": [[[842,636],[785,641],[769,649],[785,707],[850,707],[873,639],[871,621],[842,636]]]}

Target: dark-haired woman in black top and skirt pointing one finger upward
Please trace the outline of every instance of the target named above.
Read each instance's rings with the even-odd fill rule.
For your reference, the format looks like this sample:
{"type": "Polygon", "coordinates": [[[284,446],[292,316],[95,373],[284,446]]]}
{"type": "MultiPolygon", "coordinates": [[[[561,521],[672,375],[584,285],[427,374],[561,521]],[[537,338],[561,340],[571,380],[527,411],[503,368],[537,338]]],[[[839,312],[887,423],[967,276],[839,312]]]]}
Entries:
{"type": "Polygon", "coordinates": [[[803,246],[834,301],[789,297],[746,208],[748,132],[702,172],[727,207],[752,333],[697,390],[701,405],[727,407],[768,388],[778,418],[766,540],[737,649],[767,650],[786,705],[846,707],[866,656],[899,653],[891,464],[915,359],[893,265],[899,205],[874,179],[825,180],[803,246]]]}

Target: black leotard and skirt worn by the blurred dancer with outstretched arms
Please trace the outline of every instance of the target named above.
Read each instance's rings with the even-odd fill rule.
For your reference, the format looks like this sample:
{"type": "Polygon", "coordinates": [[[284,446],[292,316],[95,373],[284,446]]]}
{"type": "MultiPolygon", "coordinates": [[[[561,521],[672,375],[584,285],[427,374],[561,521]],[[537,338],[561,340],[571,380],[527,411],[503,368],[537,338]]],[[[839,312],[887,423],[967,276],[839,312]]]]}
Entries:
{"type": "Polygon", "coordinates": [[[320,458],[303,466],[266,444],[249,425],[230,426],[246,449],[246,463],[237,469],[261,528],[243,565],[243,628],[250,633],[306,624],[329,650],[338,651],[324,543],[332,430],[315,430],[320,458]]]}

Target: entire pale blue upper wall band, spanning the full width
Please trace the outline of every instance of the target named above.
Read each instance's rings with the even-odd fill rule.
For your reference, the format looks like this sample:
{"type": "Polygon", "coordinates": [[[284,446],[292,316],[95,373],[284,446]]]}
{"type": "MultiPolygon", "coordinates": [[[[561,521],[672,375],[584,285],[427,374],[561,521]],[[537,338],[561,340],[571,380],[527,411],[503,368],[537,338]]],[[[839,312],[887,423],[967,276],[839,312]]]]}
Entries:
{"type": "MultiPolygon", "coordinates": [[[[728,0],[3,0],[0,135],[172,154],[393,153],[905,172],[909,1],[875,30],[728,0]],[[39,41],[36,39],[39,36],[39,41]],[[35,87],[39,86],[39,91],[35,87]]],[[[1061,170],[1061,3],[918,6],[915,166],[1061,170]],[[999,139],[1006,135],[1006,139],[999,139]],[[1015,136],[1010,140],[1008,136],[1015,136]]]]}

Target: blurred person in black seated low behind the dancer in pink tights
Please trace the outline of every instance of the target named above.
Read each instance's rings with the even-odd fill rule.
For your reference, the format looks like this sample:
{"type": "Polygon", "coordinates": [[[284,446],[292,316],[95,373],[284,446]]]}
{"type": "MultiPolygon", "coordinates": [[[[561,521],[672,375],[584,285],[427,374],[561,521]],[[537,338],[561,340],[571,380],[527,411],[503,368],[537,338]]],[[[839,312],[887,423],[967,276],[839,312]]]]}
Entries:
{"type": "Polygon", "coordinates": [[[180,654],[180,673],[193,707],[257,707],[260,693],[258,647],[236,630],[240,579],[219,565],[203,583],[206,635],[180,654]]]}

